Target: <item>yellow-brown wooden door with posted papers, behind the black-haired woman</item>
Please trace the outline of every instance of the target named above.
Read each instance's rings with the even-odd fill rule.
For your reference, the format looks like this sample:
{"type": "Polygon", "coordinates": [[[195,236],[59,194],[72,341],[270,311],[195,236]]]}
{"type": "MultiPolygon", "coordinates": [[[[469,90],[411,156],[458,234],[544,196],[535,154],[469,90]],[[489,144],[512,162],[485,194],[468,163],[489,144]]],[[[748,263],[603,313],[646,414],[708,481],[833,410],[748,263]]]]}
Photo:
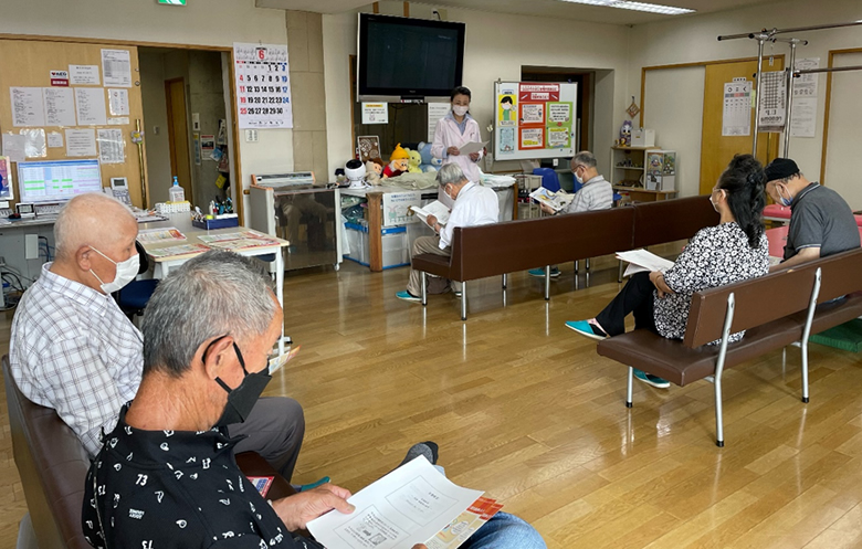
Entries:
{"type": "MultiPolygon", "coordinates": [[[[784,68],[784,57],[764,59],[764,71],[784,68]]],[[[757,60],[737,61],[706,65],[703,98],[703,130],[701,135],[701,194],[709,194],[718,176],[722,175],[734,155],[750,154],[753,136],[722,136],[724,114],[724,84],[734,78],[744,77],[754,82],[757,73],[757,60]]],[[[751,84],[757,88],[757,84],[751,84]]],[[[751,131],[754,131],[755,110],[751,109],[751,131]]],[[[766,165],[778,156],[780,134],[760,133],[757,138],[757,158],[766,165]]]]}

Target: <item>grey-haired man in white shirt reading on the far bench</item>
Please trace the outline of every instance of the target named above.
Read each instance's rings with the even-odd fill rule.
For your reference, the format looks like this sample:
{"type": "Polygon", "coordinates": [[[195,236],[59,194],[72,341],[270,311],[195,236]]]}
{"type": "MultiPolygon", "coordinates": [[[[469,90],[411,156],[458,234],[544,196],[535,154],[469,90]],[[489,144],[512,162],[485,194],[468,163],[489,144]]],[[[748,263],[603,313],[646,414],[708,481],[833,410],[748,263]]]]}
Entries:
{"type": "MultiPolygon", "coordinates": [[[[440,190],[455,203],[452,214],[445,224],[441,224],[433,215],[425,222],[438,233],[435,236],[419,236],[413,242],[413,254],[437,254],[449,257],[452,255],[452,235],[458,226],[476,226],[496,223],[500,220],[500,202],[496,193],[487,187],[469,181],[456,163],[448,163],[437,172],[440,190]]],[[[429,276],[428,293],[442,294],[449,289],[449,281],[429,276]]],[[[410,281],[407,289],[398,292],[396,297],[407,302],[421,302],[422,273],[410,270],[410,281]]],[[[460,286],[455,285],[455,295],[460,295],[460,286]]]]}

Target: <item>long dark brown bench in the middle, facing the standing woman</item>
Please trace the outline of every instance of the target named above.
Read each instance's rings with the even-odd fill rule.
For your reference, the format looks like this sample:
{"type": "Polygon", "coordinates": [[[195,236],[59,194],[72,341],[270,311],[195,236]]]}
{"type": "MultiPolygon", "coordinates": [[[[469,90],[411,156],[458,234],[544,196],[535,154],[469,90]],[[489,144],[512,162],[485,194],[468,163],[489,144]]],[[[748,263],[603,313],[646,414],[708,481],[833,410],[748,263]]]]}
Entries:
{"type": "Polygon", "coordinates": [[[544,266],[545,299],[550,299],[549,265],[691,239],[717,222],[708,197],[692,197],[456,228],[450,257],[420,254],[412,257],[412,268],[422,273],[422,305],[428,304],[428,274],[461,282],[461,319],[466,320],[469,281],[502,275],[505,288],[507,273],[544,266]]]}

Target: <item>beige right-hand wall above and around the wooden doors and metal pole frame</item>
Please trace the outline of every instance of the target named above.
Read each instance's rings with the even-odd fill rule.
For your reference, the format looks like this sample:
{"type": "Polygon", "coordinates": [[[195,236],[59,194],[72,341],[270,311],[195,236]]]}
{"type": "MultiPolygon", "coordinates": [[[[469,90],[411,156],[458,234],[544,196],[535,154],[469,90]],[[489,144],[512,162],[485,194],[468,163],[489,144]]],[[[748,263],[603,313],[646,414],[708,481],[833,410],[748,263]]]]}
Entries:
{"type": "MultiPolygon", "coordinates": [[[[719,13],[672,19],[666,22],[635,25],[631,30],[631,56],[629,60],[629,82],[632,89],[640,89],[641,67],[715,61],[726,59],[757,56],[757,44],[753,40],[742,39],[718,42],[719,34],[736,34],[751,32],[761,28],[787,29],[814,24],[849,22],[862,19],[859,0],[788,0],[782,2],[756,6],[754,8],[736,9],[719,13]]],[[[790,36],[790,35],[788,35],[790,36]]],[[[807,46],[797,50],[797,59],[820,57],[821,66],[826,66],[829,50],[862,46],[862,27],[800,32],[793,38],[809,40],[807,46]]],[[[787,53],[784,44],[767,45],[767,54],[787,53]]],[[[858,95],[858,91],[856,91],[858,95]]],[[[650,112],[648,96],[646,113],[650,112]]],[[[658,101],[661,101],[659,97],[658,101]]],[[[703,110],[703,96],[697,89],[687,89],[675,96],[674,102],[681,112],[694,113],[703,110]],[[698,107],[700,105],[700,107],[698,107]]],[[[826,75],[820,76],[820,92],[817,108],[817,131],[813,138],[793,137],[790,140],[789,156],[811,179],[819,178],[821,166],[821,147],[823,137],[823,113],[826,109],[826,75]]],[[[834,117],[844,118],[852,112],[834,113],[834,117]]],[[[649,115],[646,115],[649,118],[649,115]]],[[[648,124],[649,125],[649,124],[648,124]]],[[[858,137],[854,137],[858,142],[858,137]]],[[[662,145],[664,145],[662,142],[662,145]]],[[[784,146],[780,150],[784,150],[784,146]]],[[[747,151],[750,152],[750,151],[747,151]]],[[[681,158],[686,168],[700,166],[697,158],[681,158]]],[[[850,159],[845,167],[835,168],[834,179],[828,182],[842,194],[858,192],[855,167],[850,159]]],[[[862,208],[862,203],[855,204],[862,208]]]]}

